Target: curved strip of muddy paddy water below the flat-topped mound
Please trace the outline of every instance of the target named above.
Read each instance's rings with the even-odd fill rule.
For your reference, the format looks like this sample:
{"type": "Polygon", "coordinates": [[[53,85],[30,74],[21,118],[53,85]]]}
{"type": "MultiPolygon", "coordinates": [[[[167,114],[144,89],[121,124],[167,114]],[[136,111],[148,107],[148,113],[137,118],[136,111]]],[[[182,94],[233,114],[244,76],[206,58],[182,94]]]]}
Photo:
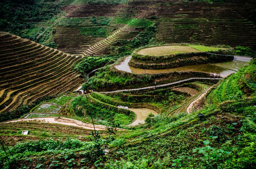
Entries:
{"type": "Polygon", "coordinates": [[[216,73],[217,75],[220,73],[222,77],[226,77],[235,71],[230,69],[225,69],[222,67],[214,66],[211,64],[199,64],[199,65],[188,65],[179,68],[172,69],[159,69],[159,70],[150,70],[150,69],[139,69],[133,68],[128,65],[128,62],[131,60],[131,56],[127,57],[120,65],[116,65],[115,68],[121,71],[126,71],[129,73],[135,74],[158,74],[158,73],[168,73],[174,71],[198,71],[205,73],[216,73]]]}

